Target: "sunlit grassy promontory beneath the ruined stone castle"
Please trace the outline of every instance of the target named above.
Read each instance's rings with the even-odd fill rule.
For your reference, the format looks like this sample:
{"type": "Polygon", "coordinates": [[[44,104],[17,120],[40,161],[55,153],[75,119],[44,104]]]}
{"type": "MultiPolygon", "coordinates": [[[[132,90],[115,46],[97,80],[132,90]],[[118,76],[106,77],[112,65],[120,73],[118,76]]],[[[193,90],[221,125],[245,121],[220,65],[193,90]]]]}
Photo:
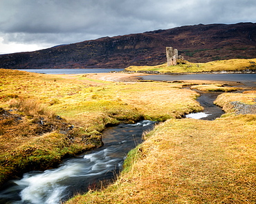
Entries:
{"type": "Polygon", "coordinates": [[[183,73],[183,72],[219,72],[219,71],[241,71],[256,69],[256,59],[229,59],[210,61],[208,63],[190,63],[184,61],[175,66],[167,67],[167,63],[155,66],[129,66],[127,71],[158,71],[161,73],[183,73]]]}

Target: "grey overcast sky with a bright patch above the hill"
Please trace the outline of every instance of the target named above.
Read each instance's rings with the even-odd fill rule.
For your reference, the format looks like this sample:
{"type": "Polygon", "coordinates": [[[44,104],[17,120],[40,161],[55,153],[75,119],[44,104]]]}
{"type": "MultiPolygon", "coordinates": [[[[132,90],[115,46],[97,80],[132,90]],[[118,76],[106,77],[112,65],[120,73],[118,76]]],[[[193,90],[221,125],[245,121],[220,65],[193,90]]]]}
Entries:
{"type": "Polygon", "coordinates": [[[0,54],[199,23],[255,23],[255,10],[255,0],[0,0],[0,54]]]}

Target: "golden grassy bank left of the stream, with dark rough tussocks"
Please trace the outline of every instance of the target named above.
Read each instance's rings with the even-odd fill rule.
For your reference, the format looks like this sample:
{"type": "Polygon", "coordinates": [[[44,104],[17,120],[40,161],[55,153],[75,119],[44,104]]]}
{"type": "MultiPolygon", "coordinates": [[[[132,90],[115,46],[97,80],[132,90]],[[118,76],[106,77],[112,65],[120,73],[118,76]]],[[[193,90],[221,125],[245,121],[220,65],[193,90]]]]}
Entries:
{"type": "Polygon", "coordinates": [[[116,83],[86,75],[0,70],[0,183],[102,145],[106,125],[197,112],[199,94],[170,83],[116,83]]]}

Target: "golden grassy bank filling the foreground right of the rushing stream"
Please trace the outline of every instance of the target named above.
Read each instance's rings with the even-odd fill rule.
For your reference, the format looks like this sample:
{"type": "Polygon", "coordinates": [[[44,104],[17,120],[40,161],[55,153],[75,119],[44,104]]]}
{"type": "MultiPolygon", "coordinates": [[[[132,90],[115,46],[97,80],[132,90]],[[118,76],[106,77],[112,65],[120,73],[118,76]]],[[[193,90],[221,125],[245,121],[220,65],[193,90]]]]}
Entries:
{"type": "Polygon", "coordinates": [[[255,203],[255,125],[253,115],[170,119],[130,152],[116,183],[67,203],[255,203]]]}

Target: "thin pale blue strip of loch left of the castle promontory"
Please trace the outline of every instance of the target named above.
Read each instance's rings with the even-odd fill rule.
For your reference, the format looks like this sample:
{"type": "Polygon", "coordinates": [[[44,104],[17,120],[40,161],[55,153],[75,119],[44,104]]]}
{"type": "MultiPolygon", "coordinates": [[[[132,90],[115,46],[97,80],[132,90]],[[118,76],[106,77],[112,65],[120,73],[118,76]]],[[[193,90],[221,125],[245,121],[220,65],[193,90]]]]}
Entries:
{"type": "Polygon", "coordinates": [[[108,73],[120,72],[122,69],[27,69],[26,72],[35,72],[40,74],[86,74],[86,73],[108,73]]]}

